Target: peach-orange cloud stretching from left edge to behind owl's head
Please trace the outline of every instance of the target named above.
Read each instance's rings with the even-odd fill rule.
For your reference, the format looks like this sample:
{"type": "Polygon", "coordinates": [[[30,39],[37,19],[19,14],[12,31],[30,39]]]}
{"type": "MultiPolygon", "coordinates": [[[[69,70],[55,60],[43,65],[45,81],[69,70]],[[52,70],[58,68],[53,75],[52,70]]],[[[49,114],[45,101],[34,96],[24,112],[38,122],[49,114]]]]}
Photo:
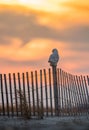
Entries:
{"type": "Polygon", "coordinates": [[[33,39],[25,45],[22,45],[22,41],[17,38],[9,40],[10,44],[0,45],[2,54],[0,57],[15,61],[39,60],[48,57],[49,52],[55,47],[61,48],[61,50],[67,47],[65,43],[51,39],[33,39]]]}

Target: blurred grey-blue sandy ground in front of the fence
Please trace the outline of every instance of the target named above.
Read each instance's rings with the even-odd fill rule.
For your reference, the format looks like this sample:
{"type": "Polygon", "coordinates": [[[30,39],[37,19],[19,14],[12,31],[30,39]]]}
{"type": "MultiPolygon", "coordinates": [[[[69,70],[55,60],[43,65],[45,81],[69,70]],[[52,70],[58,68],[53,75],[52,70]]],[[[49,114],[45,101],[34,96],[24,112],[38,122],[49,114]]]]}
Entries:
{"type": "Polygon", "coordinates": [[[0,117],[0,130],[89,130],[89,117],[44,117],[41,120],[0,117]]]}

